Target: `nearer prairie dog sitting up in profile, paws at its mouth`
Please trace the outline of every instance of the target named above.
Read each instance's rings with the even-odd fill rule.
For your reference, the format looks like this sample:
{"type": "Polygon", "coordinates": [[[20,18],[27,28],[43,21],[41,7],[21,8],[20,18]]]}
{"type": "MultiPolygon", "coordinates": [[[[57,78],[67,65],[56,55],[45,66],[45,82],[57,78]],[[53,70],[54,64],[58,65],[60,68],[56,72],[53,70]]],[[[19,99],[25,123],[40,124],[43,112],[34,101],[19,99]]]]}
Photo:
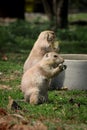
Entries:
{"type": "Polygon", "coordinates": [[[50,78],[53,78],[65,69],[63,62],[64,59],[56,52],[49,52],[36,65],[23,74],[21,90],[27,102],[40,104],[48,101],[50,78]]]}

